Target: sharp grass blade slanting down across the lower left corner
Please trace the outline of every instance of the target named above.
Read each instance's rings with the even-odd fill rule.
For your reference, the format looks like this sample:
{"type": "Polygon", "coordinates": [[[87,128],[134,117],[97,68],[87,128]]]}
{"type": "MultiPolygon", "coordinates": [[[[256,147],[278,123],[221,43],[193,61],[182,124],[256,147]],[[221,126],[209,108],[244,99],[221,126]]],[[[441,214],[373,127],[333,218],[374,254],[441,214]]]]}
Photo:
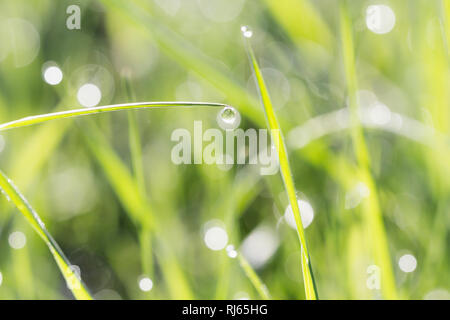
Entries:
{"type": "Polygon", "coordinates": [[[74,274],[69,260],[47,231],[39,215],[19,192],[13,182],[2,171],[0,171],[0,189],[3,190],[5,195],[14,203],[17,209],[25,216],[28,223],[47,244],[75,298],[80,300],[91,300],[92,296],[86,286],[78,276],[74,274]]]}

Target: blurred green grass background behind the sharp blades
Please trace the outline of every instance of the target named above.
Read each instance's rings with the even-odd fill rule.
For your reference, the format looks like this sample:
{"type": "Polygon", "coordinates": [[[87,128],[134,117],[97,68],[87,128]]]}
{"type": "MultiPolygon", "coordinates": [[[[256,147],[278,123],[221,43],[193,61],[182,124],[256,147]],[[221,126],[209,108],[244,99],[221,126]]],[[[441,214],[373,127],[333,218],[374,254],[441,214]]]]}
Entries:
{"type": "MultiPolygon", "coordinates": [[[[0,122],[78,108],[77,91],[90,82],[101,90],[99,105],[223,102],[239,110],[242,128],[265,128],[240,32],[249,25],[298,196],[314,212],[305,232],[319,297],[448,299],[450,6],[348,1],[343,15],[343,5],[1,0],[0,122]],[[66,28],[73,4],[81,8],[80,30],[66,28]],[[367,8],[381,4],[394,12],[395,26],[376,34],[368,26],[382,26],[384,17],[370,20],[367,8]],[[49,61],[64,75],[56,86],[43,80],[49,61]],[[348,106],[369,164],[355,155],[348,106]],[[393,295],[367,287],[368,268],[379,264],[374,248],[384,241],[370,231],[377,206],[389,254],[381,277],[392,274],[393,295]],[[399,264],[405,254],[415,268],[411,260],[399,264]]],[[[192,130],[194,120],[217,127],[216,115],[140,110],[11,130],[0,136],[0,168],[98,299],[259,298],[239,259],[205,246],[212,224],[226,230],[273,298],[303,299],[279,174],[170,160],[174,129],[192,130]],[[141,290],[143,277],[150,291],[141,290]]],[[[0,210],[0,298],[72,298],[23,217],[5,198],[0,210]],[[17,231],[26,244],[14,249],[17,231]]]]}

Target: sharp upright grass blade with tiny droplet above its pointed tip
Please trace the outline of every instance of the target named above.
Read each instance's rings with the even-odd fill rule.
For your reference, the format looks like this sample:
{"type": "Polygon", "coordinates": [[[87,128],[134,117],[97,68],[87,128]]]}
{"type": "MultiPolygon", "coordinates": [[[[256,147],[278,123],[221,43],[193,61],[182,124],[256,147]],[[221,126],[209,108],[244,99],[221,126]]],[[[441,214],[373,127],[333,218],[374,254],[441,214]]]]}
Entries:
{"type": "Polygon", "coordinates": [[[297,226],[297,234],[300,240],[301,246],[301,259],[302,259],[302,271],[303,271],[303,280],[305,285],[305,294],[308,300],[316,300],[318,299],[317,289],[314,282],[314,276],[312,272],[311,262],[309,258],[308,249],[306,246],[306,238],[305,232],[303,229],[302,220],[300,217],[300,209],[298,207],[298,200],[295,192],[294,181],[292,178],[291,168],[289,166],[288,155],[286,146],[284,144],[283,135],[280,131],[280,126],[278,124],[278,120],[275,116],[274,109],[272,107],[272,102],[269,97],[269,92],[264,83],[264,79],[259,68],[258,62],[256,61],[253,50],[250,46],[249,41],[244,36],[244,42],[246,45],[247,54],[250,59],[250,64],[252,66],[255,78],[256,78],[256,86],[258,88],[261,102],[263,104],[266,119],[268,122],[269,129],[271,130],[272,141],[274,142],[278,159],[280,163],[280,171],[281,176],[283,178],[284,186],[289,198],[289,203],[292,207],[292,211],[294,213],[295,223],[297,226]]]}

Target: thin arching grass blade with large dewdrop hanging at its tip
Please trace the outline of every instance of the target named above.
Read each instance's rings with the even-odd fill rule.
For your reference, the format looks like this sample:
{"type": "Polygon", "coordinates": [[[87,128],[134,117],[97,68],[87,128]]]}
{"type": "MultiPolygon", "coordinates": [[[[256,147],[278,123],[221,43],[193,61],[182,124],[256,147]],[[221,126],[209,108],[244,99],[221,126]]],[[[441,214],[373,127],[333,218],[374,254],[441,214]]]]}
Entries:
{"type": "Polygon", "coordinates": [[[0,131],[5,131],[13,128],[25,127],[33,124],[38,124],[50,120],[64,119],[85,116],[89,114],[97,114],[103,112],[112,112],[120,110],[132,109],[146,109],[146,108],[182,108],[182,107],[227,107],[223,103],[212,102],[136,102],[136,103],[122,103],[108,106],[100,106],[93,108],[73,109],[67,111],[51,112],[40,114],[36,116],[25,117],[11,122],[0,124],[0,131]]]}

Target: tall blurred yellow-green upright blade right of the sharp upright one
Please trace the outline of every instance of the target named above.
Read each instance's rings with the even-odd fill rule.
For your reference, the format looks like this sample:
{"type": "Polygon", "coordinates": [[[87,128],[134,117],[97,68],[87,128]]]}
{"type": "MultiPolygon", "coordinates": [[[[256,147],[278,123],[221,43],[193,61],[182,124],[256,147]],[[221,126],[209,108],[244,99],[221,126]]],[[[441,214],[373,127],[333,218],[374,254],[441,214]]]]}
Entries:
{"type": "Polygon", "coordinates": [[[363,203],[365,223],[370,232],[371,246],[374,251],[375,263],[381,269],[381,291],[387,299],[396,299],[397,293],[389,256],[386,231],[383,225],[376,185],[370,172],[369,152],[358,117],[358,84],[356,78],[355,54],[352,35],[352,23],[348,14],[347,4],[341,1],[340,28],[342,54],[345,66],[345,77],[350,101],[350,121],[353,148],[359,166],[359,176],[370,190],[370,196],[363,203]]]}

